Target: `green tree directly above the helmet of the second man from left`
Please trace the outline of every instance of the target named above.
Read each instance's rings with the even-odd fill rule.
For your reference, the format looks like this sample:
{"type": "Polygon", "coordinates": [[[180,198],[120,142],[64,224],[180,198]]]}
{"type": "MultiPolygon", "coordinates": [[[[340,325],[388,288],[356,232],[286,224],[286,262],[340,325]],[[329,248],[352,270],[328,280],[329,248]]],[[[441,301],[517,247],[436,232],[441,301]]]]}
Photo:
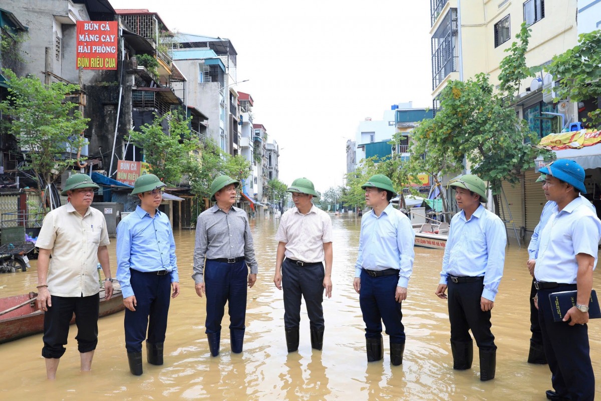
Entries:
{"type": "Polygon", "coordinates": [[[185,167],[191,162],[191,152],[199,147],[191,138],[189,121],[177,113],[155,115],[152,124],[144,124],[139,131],[129,132],[132,141],[144,149],[144,161],[150,172],[165,183],[177,185],[185,167]]]}

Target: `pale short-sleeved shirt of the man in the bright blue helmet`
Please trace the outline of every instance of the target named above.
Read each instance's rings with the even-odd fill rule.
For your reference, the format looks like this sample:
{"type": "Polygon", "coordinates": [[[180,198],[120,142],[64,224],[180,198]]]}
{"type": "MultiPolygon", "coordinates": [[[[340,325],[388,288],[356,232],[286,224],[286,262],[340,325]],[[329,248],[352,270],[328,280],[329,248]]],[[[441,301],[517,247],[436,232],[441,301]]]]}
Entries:
{"type": "Polygon", "coordinates": [[[552,207],[551,217],[540,232],[538,255],[534,267],[537,281],[575,284],[579,253],[594,257],[597,266],[601,221],[582,197],[563,209],[552,207]]]}

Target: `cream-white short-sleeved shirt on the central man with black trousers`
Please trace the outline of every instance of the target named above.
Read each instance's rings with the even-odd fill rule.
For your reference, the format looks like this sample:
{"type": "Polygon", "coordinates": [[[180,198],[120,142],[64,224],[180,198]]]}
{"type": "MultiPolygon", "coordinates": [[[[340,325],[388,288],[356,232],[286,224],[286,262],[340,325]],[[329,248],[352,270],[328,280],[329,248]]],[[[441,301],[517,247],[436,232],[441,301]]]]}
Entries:
{"type": "Polygon", "coordinates": [[[306,215],[296,207],[284,212],[279,221],[278,242],[286,243],[285,257],[317,263],[324,259],[323,244],[332,242],[332,219],[328,213],[311,206],[306,215]]]}

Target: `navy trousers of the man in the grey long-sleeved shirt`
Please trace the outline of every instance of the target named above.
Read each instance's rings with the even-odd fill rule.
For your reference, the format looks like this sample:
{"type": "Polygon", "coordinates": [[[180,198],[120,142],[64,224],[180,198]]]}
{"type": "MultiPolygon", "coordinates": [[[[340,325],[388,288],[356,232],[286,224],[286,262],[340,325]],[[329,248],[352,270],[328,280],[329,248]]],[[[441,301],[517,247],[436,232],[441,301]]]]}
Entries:
{"type": "Polygon", "coordinates": [[[207,295],[206,333],[221,331],[225,302],[230,313],[230,329],[245,329],[248,267],[245,260],[236,263],[207,260],[204,266],[204,283],[207,295]]]}

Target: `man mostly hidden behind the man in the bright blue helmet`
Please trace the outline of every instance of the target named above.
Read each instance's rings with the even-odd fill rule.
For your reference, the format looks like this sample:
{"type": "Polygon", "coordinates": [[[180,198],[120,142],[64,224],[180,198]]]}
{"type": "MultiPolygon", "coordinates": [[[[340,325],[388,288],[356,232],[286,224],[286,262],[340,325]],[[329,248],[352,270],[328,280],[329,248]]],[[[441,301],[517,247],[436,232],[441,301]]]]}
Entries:
{"type": "MultiPolygon", "coordinates": [[[[540,177],[536,180],[536,182],[545,182],[546,174],[541,174],[540,177]]],[[[587,205],[589,209],[593,210],[596,214],[595,207],[591,204],[587,198],[580,195],[582,199],[582,203],[587,205]]],[[[557,206],[557,203],[554,201],[547,201],[545,206],[543,206],[543,212],[540,214],[540,221],[534,228],[534,232],[532,233],[532,237],[530,239],[530,243],[528,244],[528,271],[532,276],[532,286],[530,288],[530,331],[532,332],[532,336],[530,338],[530,350],[528,352],[528,363],[534,364],[546,364],[547,358],[545,357],[545,350],[543,349],[543,335],[540,332],[540,323],[538,323],[538,309],[534,304],[534,297],[536,296],[537,289],[534,286],[534,268],[536,266],[536,259],[538,256],[538,239],[540,237],[540,233],[547,225],[549,218],[553,214],[554,208],[557,206]]]]}

